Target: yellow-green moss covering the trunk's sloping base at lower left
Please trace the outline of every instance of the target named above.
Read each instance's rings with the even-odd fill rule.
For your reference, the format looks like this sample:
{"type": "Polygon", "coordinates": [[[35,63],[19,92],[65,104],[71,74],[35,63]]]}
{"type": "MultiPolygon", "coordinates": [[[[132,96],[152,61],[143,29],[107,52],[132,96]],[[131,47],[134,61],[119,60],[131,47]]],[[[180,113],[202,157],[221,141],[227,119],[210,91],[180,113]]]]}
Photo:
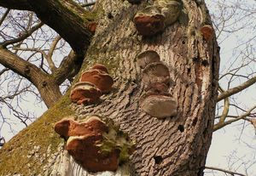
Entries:
{"type": "Polygon", "coordinates": [[[42,169],[47,163],[46,155],[50,144],[50,154],[55,153],[61,138],[54,131],[54,123],[64,116],[72,115],[68,93],[52,108],[39,117],[29,127],[15,135],[0,150],[0,175],[32,175],[43,173],[42,169]],[[38,146],[37,156],[32,150],[38,146]]]}

